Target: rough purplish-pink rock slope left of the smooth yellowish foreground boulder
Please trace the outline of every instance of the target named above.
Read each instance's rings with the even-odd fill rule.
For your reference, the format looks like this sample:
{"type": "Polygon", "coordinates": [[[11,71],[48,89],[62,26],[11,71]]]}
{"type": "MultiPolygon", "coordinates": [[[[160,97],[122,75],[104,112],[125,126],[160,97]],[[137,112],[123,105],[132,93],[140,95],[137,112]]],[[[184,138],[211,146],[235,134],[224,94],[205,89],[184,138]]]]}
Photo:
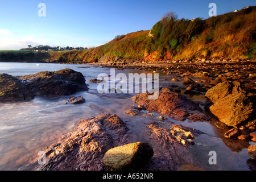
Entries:
{"type": "Polygon", "coordinates": [[[110,148],[129,143],[127,130],[126,123],[115,114],[82,119],[71,133],[44,149],[46,164],[35,170],[104,170],[104,154],[110,148]]]}

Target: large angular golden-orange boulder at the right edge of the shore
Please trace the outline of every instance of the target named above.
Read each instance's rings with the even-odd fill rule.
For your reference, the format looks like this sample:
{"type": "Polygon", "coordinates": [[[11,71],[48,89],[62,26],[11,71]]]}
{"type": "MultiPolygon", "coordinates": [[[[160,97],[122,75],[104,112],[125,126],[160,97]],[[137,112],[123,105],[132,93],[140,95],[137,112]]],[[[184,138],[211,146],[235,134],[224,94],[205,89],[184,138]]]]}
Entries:
{"type": "Polygon", "coordinates": [[[237,126],[249,119],[254,104],[238,81],[221,82],[205,94],[210,112],[228,126],[237,126]]]}

